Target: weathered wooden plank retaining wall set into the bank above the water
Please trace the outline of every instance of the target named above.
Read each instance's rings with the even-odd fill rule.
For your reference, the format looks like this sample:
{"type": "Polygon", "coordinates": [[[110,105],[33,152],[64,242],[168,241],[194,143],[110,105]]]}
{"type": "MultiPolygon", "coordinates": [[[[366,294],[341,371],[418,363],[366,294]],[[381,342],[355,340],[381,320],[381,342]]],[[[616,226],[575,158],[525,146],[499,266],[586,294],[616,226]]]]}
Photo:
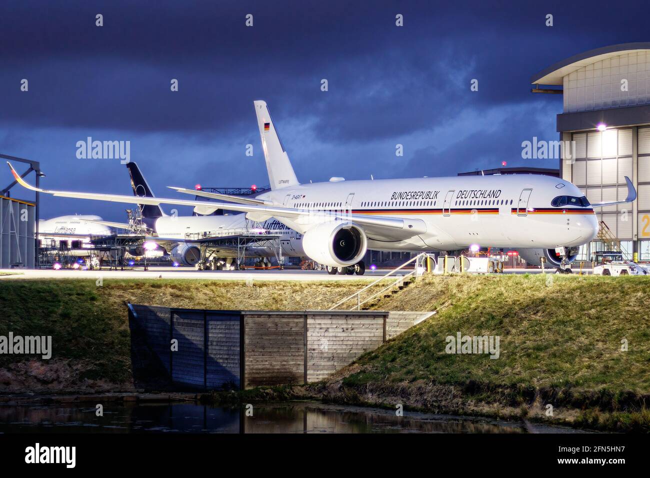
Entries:
{"type": "Polygon", "coordinates": [[[142,332],[172,382],[207,389],[322,380],[429,315],[129,306],[132,330],[142,332]]]}

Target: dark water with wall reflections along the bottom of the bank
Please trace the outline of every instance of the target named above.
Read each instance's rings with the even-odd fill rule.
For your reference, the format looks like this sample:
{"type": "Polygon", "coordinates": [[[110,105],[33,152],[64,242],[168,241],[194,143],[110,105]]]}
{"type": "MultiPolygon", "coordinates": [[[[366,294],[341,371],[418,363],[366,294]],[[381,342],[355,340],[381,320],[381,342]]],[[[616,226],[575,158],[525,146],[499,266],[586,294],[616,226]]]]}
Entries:
{"type": "MultiPolygon", "coordinates": [[[[558,429],[554,429],[558,431],[558,429]]],[[[525,433],[522,423],[440,416],[315,402],[211,406],[197,403],[105,403],[94,406],[0,406],[0,432],[212,433],[525,433]]]]}

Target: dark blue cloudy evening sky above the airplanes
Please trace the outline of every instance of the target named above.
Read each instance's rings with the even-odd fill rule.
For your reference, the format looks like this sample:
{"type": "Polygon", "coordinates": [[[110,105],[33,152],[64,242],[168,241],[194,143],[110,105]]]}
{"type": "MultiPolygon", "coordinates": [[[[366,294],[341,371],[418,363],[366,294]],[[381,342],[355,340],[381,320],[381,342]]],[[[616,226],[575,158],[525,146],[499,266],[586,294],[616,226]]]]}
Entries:
{"type": "MultiPolygon", "coordinates": [[[[557,167],[521,159],[523,140],[558,139],[562,110],[562,96],[530,93],[531,75],[647,41],[648,12],[611,1],[4,0],[0,153],[40,161],[49,189],[131,194],[118,160],[77,159],[88,136],[131,141],[159,196],[175,196],[166,185],[265,185],[259,99],[302,182],[557,167]]],[[[124,207],[44,197],[41,217],[123,220],[124,207]]]]}

